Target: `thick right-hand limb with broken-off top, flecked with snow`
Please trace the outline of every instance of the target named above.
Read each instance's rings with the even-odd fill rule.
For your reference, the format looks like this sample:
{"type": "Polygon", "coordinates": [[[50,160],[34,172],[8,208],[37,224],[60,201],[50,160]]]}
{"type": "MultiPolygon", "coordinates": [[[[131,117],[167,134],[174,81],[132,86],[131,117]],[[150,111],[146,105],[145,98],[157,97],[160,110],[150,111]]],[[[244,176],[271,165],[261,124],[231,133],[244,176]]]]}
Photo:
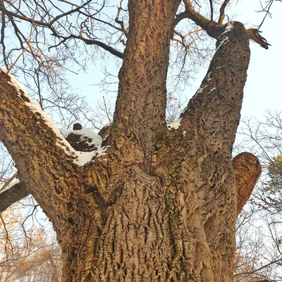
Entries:
{"type": "Polygon", "coordinates": [[[249,39],[243,24],[226,25],[216,46],[207,75],[185,109],[181,123],[191,140],[194,135],[202,140],[197,152],[228,152],[231,157],[250,61],[249,39]]]}

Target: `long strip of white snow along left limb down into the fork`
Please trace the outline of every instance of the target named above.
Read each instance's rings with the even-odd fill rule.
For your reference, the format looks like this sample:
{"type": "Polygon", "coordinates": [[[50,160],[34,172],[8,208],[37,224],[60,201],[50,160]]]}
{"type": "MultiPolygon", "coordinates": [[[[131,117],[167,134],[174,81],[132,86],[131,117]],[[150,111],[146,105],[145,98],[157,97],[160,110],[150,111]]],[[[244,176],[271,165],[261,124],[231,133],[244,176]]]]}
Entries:
{"type": "MultiPolygon", "coordinates": [[[[6,68],[4,68],[3,66],[0,66],[0,70],[3,71],[4,73],[6,73],[6,68]]],[[[58,145],[59,147],[63,148],[63,150],[66,152],[66,154],[71,157],[71,159],[73,160],[73,162],[75,164],[78,164],[78,166],[84,166],[85,164],[87,164],[87,162],[89,162],[92,157],[94,157],[94,155],[99,154],[99,155],[103,155],[106,154],[106,147],[101,147],[102,144],[102,137],[97,137],[96,133],[93,133],[94,135],[92,135],[93,138],[93,144],[97,147],[97,151],[93,151],[93,152],[78,152],[75,151],[75,149],[73,149],[73,147],[71,147],[71,145],[66,141],[65,137],[63,137],[63,135],[60,133],[59,128],[56,127],[56,125],[51,121],[51,119],[49,118],[49,116],[42,111],[41,107],[39,106],[39,104],[37,104],[37,102],[33,101],[32,99],[30,99],[30,97],[28,97],[27,93],[25,92],[25,88],[23,87],[23,85],[21,85],[16,78],[14,78],[13,75],[11,75],[10,73],[8,74],[11,78],[11,85],[13,85],[14,87],[16,87],[16,90],[18,90],[18,92],[23,91],[23,94],[25,94],[25,97],[27,97],[27,99],[29,99],[29,102],[25,102],[25,104],[35,113],[35,114],[40,114],[42,116],[42,119],[45,121],[46,125],[49,126],[49,128],[51,128],[51,130],[54,131],[54,133],[56,134],[57,137],[57,142],[56,145],[58,145]],[[100,141],[100,142],[99,142],[100,141]],[[73,159],[73,157],[75,157],[75,159],[73,159]]],[[[77,130],[78,131],[82,131],[83,130],[77,130]]],[[[84,133],[84,132],[83,132],[84,133]]],[[[86,134],[86,133],[84,133],[86,134]]],[[[87,134],[90,134],[89,132],[87,134]]]]}

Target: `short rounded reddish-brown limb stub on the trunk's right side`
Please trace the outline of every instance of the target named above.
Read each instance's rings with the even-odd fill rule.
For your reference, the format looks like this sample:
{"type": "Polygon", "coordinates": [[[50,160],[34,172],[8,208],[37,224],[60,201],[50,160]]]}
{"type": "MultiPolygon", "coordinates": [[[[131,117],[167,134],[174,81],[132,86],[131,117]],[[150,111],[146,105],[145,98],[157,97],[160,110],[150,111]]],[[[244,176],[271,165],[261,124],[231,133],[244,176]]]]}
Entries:
{"type": "Polygon", "coordinates": [[[259,159],[253,154],[244,152],[238,154],[232,161],[238,190],[237,214],[240,214],[245,203],[250,198],[257,180],[262,173],[259,159]]]}

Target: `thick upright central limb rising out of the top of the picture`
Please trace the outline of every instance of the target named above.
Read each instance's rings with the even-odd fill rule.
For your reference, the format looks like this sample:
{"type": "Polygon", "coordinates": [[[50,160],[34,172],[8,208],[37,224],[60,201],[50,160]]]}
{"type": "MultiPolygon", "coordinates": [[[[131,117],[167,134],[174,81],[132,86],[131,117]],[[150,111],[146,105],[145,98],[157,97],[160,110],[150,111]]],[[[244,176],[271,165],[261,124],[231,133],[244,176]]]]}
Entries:
{"type": "Polygon", "coordinates": [[[129,1],[128,40],[119,72],[112,134],[128,164],[146,163],[152,135],[165,122],[172,23],[180,1],[129,1]]]}

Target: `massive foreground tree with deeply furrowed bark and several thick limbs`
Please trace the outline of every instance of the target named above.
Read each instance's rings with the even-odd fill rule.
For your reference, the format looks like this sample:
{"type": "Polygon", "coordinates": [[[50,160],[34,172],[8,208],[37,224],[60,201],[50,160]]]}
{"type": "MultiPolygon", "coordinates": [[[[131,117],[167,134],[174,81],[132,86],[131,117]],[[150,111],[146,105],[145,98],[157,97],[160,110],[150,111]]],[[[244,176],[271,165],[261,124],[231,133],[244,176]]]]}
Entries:
{"type": "MultiPolygon", "coordinates": [[[[219,7],[217,21],[212,5],[209,20],[189,0],[183,6],[180,0],[131,0],[128,29],[116,19],[118,31],[126,35],[121,52],[83,37],[92,35],[92,20],[99,22],[97,3],[97,13],[88,13],[89,20],[76,30],[79,35],[73,25],[66,27],[68,20],[59,23],[73,13],[85,13],[90,4],[56,16],[37,13],[42,8],[37,2],[33,10],[27,5],[34,11],[30,18],[16,4],[0,5],[20,39],[13,25],[17,18],[36,32],[49,28],[60,40],[56,47],[80,39],[123,60],[103,151],[96,144],[97,149],[84,154],[71,148],[8,74],[8,60],[8,72],[0,74],[0,137],[16,163],[20,183],[54,225],[63,281],[232,281],[235,219],[261,169],[250,153],[231,159],[250,61],[250,32],[242,23],[223,24],[228,0],[219,7]],[[187,18],[216,39],[216,52],[178,123],[167,126],[170,40],[176,25],[187,18]],[[82,164],[81,156],[92,161],[82,164]]],[[[29,50],[35,59],[42,58],[40,42],[36,50],[31,39],[25,42],[23,53],[29,50]]]]}

